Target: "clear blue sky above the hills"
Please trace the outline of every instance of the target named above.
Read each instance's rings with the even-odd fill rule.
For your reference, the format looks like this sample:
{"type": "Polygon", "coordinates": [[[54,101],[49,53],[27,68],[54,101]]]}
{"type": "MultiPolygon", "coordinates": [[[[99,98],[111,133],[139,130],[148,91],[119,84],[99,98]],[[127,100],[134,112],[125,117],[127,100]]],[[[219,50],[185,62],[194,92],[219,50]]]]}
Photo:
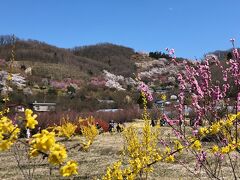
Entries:
{"type": "Polygon", "coordinates": [[[1,0],[0,7],[1,35],[65,48],[110,42],[201,58],[240,41],[239,0],[1,0]]]}

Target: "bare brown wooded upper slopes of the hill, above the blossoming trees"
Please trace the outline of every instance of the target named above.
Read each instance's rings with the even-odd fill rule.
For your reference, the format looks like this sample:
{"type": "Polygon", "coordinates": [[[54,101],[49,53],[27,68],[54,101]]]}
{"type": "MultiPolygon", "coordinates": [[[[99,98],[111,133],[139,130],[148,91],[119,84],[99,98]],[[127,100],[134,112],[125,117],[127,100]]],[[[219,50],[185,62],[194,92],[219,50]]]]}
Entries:
{"type": "MultiPolygon", "coordinates": [[[[11,49],[11,44],[0,45],[0,57],[9,60],[11,49]]],[[[67,64],[90,75],[98,75],[103,69],[126,75],[134,70],[130,61],[133,49],[108,43],[64,49],[35,40],[17,40],[15,54],[16,61],[67,64]]]]}

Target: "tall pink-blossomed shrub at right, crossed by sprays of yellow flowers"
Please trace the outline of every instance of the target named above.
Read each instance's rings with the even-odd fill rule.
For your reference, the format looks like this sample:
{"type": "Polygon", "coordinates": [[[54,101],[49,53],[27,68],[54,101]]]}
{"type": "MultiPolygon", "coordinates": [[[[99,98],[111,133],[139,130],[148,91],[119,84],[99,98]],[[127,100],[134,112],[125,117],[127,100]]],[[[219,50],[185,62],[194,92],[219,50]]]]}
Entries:
{"type": "MultiPolygon", "coordinates": [[[[231,42],[234,45],[233,39],[231,42]]],[[[204,61],[192,66],[184,63],[185,73],[178,74],[178,121],[182,126],[172,126],[173,132],[184,144],[184,148],[190,147],[190,152],[196,158],[195,171],[200,172],[203,169],[209,178],[221,179],[223,162],[229,163],[232,178],[239,178],[238,166],[234,164],[238,162],[240,152],[240,56],[234,46],[232,54],[233,58],[226,63],[226,68],[216,57],[207,56],[204,61]],[[211,71],[213,67],[222,72],[219,76],[222,78],[222,85],[219,80],[214,80],[211,71]],[[228,92],[231,80],[234,81],[232,86],[235,86],[238,92],[235,100],[230,102],[228,92]],[[186,133],[184,103],[187,97],[191,98],[190,107],[195,113],[192,119],[192,135],[186,133]],[[232,114],[227,111],[230,104],[235,107],[232,114]],[[207,125],[203,126],[204,124],[207,125]],[[204,144],[203,141],[209,143],[204,144]]],[[[175,62],[174,59],[173,61],[175,62]]],[[[166,115],[164,118],[167,122],[171,121],[166,115]]]]}

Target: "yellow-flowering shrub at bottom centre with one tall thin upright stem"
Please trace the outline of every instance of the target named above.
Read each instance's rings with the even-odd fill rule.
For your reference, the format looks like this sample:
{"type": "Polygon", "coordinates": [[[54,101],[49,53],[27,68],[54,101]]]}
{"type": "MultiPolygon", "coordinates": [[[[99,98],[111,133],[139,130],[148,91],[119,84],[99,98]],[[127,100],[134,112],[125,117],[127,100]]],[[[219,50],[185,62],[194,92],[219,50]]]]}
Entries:
{"type": "MultiPolygon", "coordinates": [[[[142,134],[139,136],[137,129],[129,127],[124,131],[125,147],[123,157],[107,168],[103,180],[111,179],[137,179],[145,177],[153,172],[153,164],[159,161],[174,162],[173,151],[170,147],[162,150],[157,146],[159,127],[154,129],[150,127],[150,118],[147,113],[147,98],[145,91],[141,92],[144,102],[144,127],[142,134]],[[126,164],[124,165],[123,164],[126,164]]],[[[180,143],[178,149],[181,148],[180,143]]],[[[179,151],[179,150],[177,150],[179,151]]]]}

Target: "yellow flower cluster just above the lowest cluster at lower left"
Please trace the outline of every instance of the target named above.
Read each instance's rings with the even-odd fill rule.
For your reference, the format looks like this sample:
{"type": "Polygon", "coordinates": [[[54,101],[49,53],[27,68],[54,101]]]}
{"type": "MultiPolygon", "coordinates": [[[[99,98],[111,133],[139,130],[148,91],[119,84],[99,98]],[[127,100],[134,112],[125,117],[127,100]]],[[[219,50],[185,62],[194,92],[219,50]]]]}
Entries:
{"type": "Polygon", "coordinates": [[[50,148],[50,154],[48,156],[48,161],[53,165],[61,164],[67,158],[67,151],[64,145],[54,144],[50,148]]]}

